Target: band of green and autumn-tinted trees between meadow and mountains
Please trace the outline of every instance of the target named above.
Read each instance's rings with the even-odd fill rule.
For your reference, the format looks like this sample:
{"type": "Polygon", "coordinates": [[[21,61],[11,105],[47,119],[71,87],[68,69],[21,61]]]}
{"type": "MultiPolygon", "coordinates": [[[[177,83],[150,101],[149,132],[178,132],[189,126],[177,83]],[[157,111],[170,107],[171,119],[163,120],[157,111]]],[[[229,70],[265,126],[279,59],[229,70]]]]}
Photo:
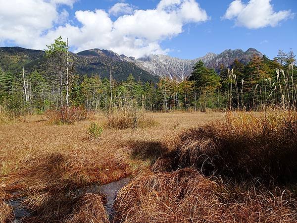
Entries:
{"type": "MultiPolygon", "coordinates": [[[[61,38],[47,46],[43,71],[13,72],[0,68],[0,106],[14,114],[43,113],[63,106],[88,111],[123,107],[127,103],[147,111],[206,109],[262,110],[271,105],[296,106],[296,56],[279,51],[277,57],[254,56],[248,64],[235,60],[219,73],[202,61],[179,83],[164,78],[157,84],[130,74],[126,80],[74,73],[75,62],[61,38]]],[[[106,67],[106,70],[109,68],[106,67]]]]}

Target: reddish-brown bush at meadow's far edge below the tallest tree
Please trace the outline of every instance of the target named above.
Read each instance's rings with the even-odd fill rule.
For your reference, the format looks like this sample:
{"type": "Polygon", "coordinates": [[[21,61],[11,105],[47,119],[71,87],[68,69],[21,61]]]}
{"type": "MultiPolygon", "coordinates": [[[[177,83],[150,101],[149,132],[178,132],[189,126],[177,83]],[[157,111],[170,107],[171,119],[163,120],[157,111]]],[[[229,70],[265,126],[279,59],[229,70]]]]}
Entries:
{"type": "Polygon", "coordinates": [[[63,107],[45,112],[49,124],[73,124],[76,121],[86,120],[87,115],[87,110],[82,107],[63,107]]]}

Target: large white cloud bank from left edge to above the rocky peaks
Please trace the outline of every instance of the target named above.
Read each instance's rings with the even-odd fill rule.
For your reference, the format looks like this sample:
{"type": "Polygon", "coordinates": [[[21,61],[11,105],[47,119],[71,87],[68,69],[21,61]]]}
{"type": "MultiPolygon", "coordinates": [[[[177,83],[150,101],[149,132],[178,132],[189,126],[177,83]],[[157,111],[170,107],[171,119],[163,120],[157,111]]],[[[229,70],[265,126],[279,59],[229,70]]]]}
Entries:
{"type": "Polygon", "coordinates": [[[209,19],[196,0],[161,0],[154,9],[127,10],[114,21],[110,14],[123,13],[125,3],[120,7],[115,4],[114,10],[111,8],[108,12],[102,9],[76,11],[79,25],[70,22],[54,25],[59,17],[65,19],[68,16],[66,12],[58,13],[56,4],[71,2],[74,0],[0,0],[4,5],[0,8],[0,42],[14,41],[23,47],[44,49],[61,35],[64,39],[69,38],[75,52],[99,48],[138,58],[166,54],[168,49],[160,46],[163,40],[182,33],[187,23],[209,19]],[[26,3],[18,10],[14,7],[16,2],[26,3]]]}

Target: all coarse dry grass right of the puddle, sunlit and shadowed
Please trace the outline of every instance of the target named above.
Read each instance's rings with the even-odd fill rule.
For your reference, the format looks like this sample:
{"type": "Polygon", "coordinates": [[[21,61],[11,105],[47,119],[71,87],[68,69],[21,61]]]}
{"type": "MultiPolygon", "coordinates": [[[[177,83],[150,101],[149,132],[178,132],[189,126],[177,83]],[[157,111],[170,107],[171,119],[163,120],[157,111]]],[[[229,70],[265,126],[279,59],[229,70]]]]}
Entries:
{"type": "Polygon", "coordinates": [[[231,112],[183,132],[119,192],[123,223],[297,222],[297,112],[231,112]]]}

